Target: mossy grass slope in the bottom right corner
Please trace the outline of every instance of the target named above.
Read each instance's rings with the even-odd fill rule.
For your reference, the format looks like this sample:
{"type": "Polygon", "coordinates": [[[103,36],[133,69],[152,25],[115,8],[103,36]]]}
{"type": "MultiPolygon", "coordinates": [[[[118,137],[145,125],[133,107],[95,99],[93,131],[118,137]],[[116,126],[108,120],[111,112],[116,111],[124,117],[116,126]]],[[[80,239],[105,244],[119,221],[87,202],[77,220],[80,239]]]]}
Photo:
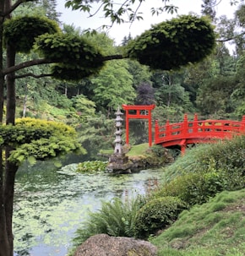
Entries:
{"type": "Polygon", "coordinates": [[[184,210],[150,242],[159,248],[159,256],[244,256],[245,189],[222,192],[184,210]]]}

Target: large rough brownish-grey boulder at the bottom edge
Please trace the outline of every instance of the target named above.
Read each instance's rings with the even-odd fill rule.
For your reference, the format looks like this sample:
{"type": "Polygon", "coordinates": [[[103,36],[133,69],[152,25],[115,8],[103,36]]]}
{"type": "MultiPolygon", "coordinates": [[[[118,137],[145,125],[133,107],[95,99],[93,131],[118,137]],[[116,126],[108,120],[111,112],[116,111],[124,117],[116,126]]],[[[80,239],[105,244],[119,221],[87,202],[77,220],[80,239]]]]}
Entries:
{"type": "Polygon", "coordinates": [[[150,242],[132,237],[90,237],[77,248],[74,256],[156,256],[157,248],[150,242]]]}

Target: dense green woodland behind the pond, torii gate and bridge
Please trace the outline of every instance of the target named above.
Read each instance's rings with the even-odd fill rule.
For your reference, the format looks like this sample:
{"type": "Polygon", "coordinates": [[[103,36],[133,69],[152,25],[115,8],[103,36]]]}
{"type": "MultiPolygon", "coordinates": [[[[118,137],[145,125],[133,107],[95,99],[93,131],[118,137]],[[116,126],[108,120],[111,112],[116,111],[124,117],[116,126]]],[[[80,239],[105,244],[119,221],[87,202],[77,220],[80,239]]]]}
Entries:
{"type": "MultiPolygon", "coordinates": [[[[215,17],[204,1],[202,12],[209,14],[217,33],[215,52],[201,63],[178,71],[151,71],[133,60],[114,60],[100,74],[76,82],[41,76],[16,79],[16,117],[36,117],[72,125],[81,144],[96,158],[98,150],[110,149],[114,140],[114,112],[122,104],[155,104],[153,120],[161,124],[182,120],[183,114],[198,113],[200,119],[241,120],[245,114],[245,5],[237,6],[234,19],[215,17]],[[237,32],[238,31],[238,32],[237,32]],[[232,50],[229,50],[232,46],[232,50]]],[[[100,45],[107,55],[119,54],[132,39],[125,35],[121,46],[104,33],[90,34],[72,25],[61,24],[56,1],[25,3],[14,15],[42,14],[56,20],[64,33],[84,35],[100,45]]],[[[18,53],[16,63],[35,58],[35,52],[18,53]]],[[[47,66],[28,68],[30,73],[45,74],[47,66]]],[[[26,73],[26,68],[25,68],[26,73]]],[[[133,121],[132,121],[133,122],[133,121]]],[[[130,143],[147,141],[144,122],[135,121],[130,143]]]]}

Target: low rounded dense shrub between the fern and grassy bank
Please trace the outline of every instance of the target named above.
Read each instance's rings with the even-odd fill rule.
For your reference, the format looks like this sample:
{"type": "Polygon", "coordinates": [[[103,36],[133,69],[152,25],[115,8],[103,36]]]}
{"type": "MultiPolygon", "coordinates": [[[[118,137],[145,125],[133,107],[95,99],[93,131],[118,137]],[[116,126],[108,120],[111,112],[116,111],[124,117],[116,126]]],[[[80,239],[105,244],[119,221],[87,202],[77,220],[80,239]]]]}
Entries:
{"type": "Polygon", "coordinates": [[[187,204],[177,197],[152,199],[139,210],[135,219],[135,237],[146,238],[177,220],[187,204]]]}

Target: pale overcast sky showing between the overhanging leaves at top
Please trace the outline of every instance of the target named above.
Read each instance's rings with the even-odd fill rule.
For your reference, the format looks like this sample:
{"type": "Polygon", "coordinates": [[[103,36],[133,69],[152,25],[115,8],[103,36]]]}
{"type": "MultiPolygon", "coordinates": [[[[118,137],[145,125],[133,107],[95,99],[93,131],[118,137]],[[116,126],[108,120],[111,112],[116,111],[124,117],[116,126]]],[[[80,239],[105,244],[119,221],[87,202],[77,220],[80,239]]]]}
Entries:
{"type": "MultiPolygon", "coordinates": [[[[117,0],[117,2],[122,2],[122,0],[117,0]]],[[[116,2],[116,1],[115,1],[116,2]]],[[[70,8],[64,8],[65,0],[57,0],[57,12],[62,13],[60,17],[61,21],[67,25],[74,25],[76,28],[81,28],[85,30],[88,28],[98,29],[101,25],[109,25],[110,22],[102,18],[100,14],[96,17],[88,18],[88,14],[84,14],[80,11],[72,11],[70,8]]],[[[161,14],[160,16],[152,16],[150,14],[150,8],[161,6],[161,0],[148,0],[142,4],[140,11],[144,20],[135,21],[132,25],[114,25],[112,29],[109,30],[108,35],[116,41],[119,45],[123,41],[123,37],[128,36],[129,33],[134,37],[140,35],[144,30],[150,29],[150,25],[154,25],[164,21],[166,19],[172,19],[176,16],[171,14],[161,14]]],[[[174,5],[178,7],[178,14],[188,14],[193,12],[195,14],[200,14],[202,0],[172,0],[174,5]]],[[[233,14],[236,7],[231,7],[230,0],[222,0],[221,3],[215,8],[219,16],[226,15],[228,18],[233,18],[233,14]]]]}

